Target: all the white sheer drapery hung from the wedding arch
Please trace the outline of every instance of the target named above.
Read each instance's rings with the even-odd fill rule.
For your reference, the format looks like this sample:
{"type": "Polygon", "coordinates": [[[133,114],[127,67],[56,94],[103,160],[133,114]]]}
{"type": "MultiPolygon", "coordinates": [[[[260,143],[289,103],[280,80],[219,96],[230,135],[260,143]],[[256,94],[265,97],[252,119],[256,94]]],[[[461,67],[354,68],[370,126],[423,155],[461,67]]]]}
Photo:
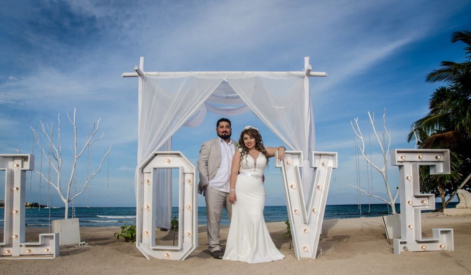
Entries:
{"type": "MultiPolygon", "coordinates": [[[[312,103],[309,96],[306,97],[305,85],[304,77],[289,73],[146,75],[139,94],[138,165],[168,143],[182,125],[198,126],[207,111],[234,115],[252,110],[290,149],[303,151],[306,198],[312,187],[309,154],[314,149],[315,134],[312,103]],[[306,100],[309,103],[306,104],[306,100]]],[[[136,184],[138,178],[136,170],[136,184]]],[[[168,180],[168,176],[163,175],[154,180],[164,178],[168,180]]],[[[166,189],[161,187],[162,190],[171,191],[168,185],[171,181],[168,181],[166,189]]],[[[170,216],[165,213],[171,210],[171,199],[168,192],[156,195],[160,209],[156,226],[169,226],[170,216]]]]}

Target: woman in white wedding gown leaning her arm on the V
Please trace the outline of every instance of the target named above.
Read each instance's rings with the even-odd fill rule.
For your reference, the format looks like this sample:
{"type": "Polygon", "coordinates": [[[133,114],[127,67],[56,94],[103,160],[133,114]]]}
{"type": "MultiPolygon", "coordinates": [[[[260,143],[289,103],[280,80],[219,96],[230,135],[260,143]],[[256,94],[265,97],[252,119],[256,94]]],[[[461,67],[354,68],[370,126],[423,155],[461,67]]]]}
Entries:
{"type": "Polygon", "coordinates": [[[285,257],[273,243],[265,224],[265,186],[262,181],[268,158],[285,147],[265,147],[257,128],[246,126],[241,132],[239,150],[235,151],[230,171],[229,201],[232,218],[222,259],[248,263],[267,262],[285,257]]]}

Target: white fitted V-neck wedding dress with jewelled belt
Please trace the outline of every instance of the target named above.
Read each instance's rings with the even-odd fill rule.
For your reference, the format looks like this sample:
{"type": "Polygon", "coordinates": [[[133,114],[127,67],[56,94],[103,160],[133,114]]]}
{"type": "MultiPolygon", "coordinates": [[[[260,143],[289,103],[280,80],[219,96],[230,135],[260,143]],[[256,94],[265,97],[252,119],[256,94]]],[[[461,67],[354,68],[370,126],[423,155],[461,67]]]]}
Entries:
{"type": "Polygon", "coordinates": [[[241,161],[235,183],[237,200],[232,204],[232,218],[222,259],[258,263],[285,257],[273,243],[263,216],[265,186],[262,176],[266,166],[267,159],[262,153],[257,157],[257,165],[250,155],[241,161]]]}

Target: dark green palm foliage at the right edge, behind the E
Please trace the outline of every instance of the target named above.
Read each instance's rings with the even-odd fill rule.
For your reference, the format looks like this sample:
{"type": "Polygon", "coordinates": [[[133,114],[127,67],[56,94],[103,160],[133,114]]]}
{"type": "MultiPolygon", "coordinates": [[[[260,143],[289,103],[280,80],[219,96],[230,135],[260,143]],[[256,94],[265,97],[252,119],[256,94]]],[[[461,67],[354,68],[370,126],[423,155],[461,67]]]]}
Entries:
{"type": "Polygon", "coordinates": [[[429,99],[429,112],[412,123],[407,136],[410,142],[414,133],[418,133],[420,148],[449,148],[452,154],[460,156],[459,164],[451,165],[453,176],[425,177],[422,180],[423,187],[435,186],[443,207],[471,177],[471,150],[468,148],[471,147],[468,145],[471,141],[471,31],[453,32],[451,42],[456,41],[466,44],[467,61],[442,61],[439,69],[426,76],[427,82],[444,82],[446,85],[435,89],[429,99]],[[464,180],[463,175],[467,175],[464,180]],[[426,182],[427,179],[431,182],[426,182]],[[446,201],[445,195],[450,195],[446,201]]]}

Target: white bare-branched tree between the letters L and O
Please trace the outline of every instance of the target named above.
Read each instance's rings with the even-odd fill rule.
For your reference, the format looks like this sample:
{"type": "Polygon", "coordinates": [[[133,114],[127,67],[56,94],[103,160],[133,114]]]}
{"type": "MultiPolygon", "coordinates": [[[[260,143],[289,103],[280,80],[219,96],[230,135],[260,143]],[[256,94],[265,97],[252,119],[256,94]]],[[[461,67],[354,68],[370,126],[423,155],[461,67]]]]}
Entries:
{"type": "Polygon", "coordinates": [[[85,152],[85,150],[91,146],[93,143],[96,141],[100,140],[103,137],[103,133],[99,138],[94,139],[95,134],[98,132],[98,128],[100,126],[100,119],[98,119],[97,122],[93,123],[93,128],[88,132],[87,137],[85,139],[85,142],[83,146],[80,148],[77,145],[77,122],[75,119],[75,113],[76,109],[74,108],[74,116],[72,119],[69,116],[69,113],[67,113],[67,117],[69,118],[70,123],[74,127],[74,144],[72,149],[72,154],[73,154],[73,164],[72,164],[72,169],[70,171],[69,178],[67,180],[67,191],[63,193],[62,191],[62,172],[63,172],[63,157],[62,157],[62,145],[61,145],[61,114],[57,116],[57,144],[55,144],[54,141],[54,123],[51,122],[51,124],[44,124],[42,121],[41,123],[41,131],[36,130],[35,128],[31,127],[33,130],[33,133],[35,135],[36,141],[38,146],[41,148],[41,153],[44,155],[46,161],[48,161],[51,165],[51,167],[54,169],[54,171],[57,174],[57,180],[56,182],[53,182],[51,179],[51,176],[48,175],[46,176],[42,171],[35,170],[36,173],[38,173],[48,184],[50,184],[56,191],[59,193],[60,198],[65,204],[65,217],[64,218],[69,218],[69,202],[77,198],[79,195],[81,195],[85,189],[87,188],[87,185],[90,183],[90,181],[93,179],[93,177],[100,171],[101,167],[103,166],[103,161],[105,158],[108,156],[108,154],[111,151],[111,145],[108,149],[108,151],[103,155],[100,161],[100,165],[96,170],[93,170],[90,175],[88,175],[85,179],[85,182],[83,184],[83,188],[81,191],[79,191],[76,194],[71,195],[71,187],[72,183],[74,182],[74,178],[76,177],[77,173],[77,160],[82,156],[82,154],[85,152]],[[41,139],[44,139],[46,143],[48,144],[48,151],[45,150],[44,146],[41,144],[41,139]]]}

